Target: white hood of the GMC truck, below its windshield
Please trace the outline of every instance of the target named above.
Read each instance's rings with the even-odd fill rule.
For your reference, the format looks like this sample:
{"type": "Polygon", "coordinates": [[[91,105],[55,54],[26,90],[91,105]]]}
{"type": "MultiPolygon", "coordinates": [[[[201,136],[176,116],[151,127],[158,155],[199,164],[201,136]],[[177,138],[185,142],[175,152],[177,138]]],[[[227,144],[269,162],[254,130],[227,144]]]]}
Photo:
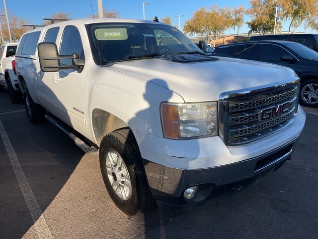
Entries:
{"type": "Polygon", "coordinates": [[[217,101],[224,92],[296,76],[292,69],[274,64],[228,57],[213,59],[180,63],[171,61],[171,57],[160,57],[117,62],[111,67],[147,81],[158,81],[161,86],[164,81],[168,89],[179,94],[185,102],[217,101]]]}

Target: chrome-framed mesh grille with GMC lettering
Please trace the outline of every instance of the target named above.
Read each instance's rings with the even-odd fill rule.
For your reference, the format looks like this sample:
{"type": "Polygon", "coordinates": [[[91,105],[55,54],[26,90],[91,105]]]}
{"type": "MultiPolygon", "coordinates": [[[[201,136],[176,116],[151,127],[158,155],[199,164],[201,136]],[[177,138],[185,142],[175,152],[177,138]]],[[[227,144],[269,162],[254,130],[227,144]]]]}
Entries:
{"type": "Polygon", "coordinates": [[[219,134],[227,145],[257,140],[291,124],[298,109],[299,79],[275,86],[224,93],[219,134]]]}

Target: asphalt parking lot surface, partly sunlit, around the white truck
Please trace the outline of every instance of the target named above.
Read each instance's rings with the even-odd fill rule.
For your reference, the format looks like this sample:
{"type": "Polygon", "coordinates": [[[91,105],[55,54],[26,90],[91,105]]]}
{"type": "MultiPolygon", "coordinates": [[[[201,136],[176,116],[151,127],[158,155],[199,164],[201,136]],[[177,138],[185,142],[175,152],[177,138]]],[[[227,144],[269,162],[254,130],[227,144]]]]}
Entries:
{"type": "Polygon", "coordinates": [[[191,211],[155,209],[128,217],[107,194],[98,156],[85,154],[48,122],[32,125],[23,104],[11,104],[1,92],[0,128],[2,123],[14,151],[7,152],[0,137],[0,239],[316,239],[318,109],[305,111],[293,159],[264,182],[191,211]],[[12,155],[22,172],[14,171],[19,165],[12,166],[12,155]],[[26,203],[21,174],[22,190],[29,185],[29,202],[38,206],[26,203]],[[30,208],[40,211],[31,215],[30,208]]]}

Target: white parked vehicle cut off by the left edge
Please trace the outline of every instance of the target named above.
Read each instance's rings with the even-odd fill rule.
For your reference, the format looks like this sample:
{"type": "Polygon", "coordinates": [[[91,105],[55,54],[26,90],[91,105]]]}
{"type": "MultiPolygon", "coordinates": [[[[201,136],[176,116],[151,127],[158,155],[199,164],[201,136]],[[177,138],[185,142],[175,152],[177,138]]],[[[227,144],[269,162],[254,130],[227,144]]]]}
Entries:
{"type": "Polygon", "coordinates": [[[17,43],[7,43],[0,47],[0,91],[7,86],[12,103],[22,102],[22,94],[14,69],[17,45],[17,43]]]}

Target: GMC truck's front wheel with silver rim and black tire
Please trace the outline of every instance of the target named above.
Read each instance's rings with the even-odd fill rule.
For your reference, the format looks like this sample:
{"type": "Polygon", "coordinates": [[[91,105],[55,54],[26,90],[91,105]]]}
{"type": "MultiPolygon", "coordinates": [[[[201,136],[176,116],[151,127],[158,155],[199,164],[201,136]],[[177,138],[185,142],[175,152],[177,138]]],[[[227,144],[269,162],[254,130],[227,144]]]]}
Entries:
{"type": "Polygon", "coordinates": [[[99,162],[108,194],[121,211],[133,216],[153,207],[154,200],[131,130],[121,129],[104,136],[99,162]]]}

